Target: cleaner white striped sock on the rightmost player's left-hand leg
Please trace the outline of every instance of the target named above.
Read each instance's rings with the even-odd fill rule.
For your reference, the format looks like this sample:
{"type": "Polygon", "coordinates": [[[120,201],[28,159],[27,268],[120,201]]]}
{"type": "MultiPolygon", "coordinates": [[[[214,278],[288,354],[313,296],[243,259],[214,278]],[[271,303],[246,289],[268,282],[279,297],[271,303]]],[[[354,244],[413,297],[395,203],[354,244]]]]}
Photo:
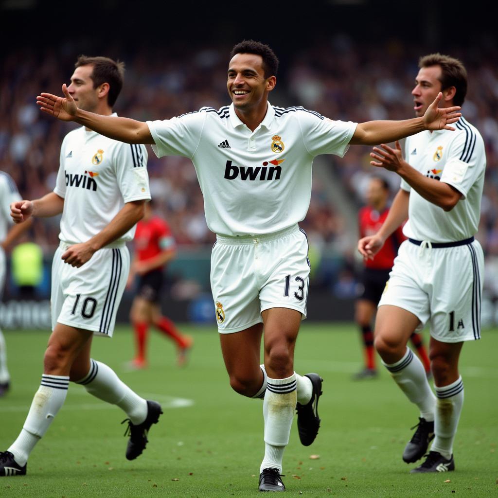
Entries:
{"type": "Polygon", "coordinates": [[[418,406],[420,416],[432,422],[436,396],[431,390],[424,366],[418,357],[410,348],[406,348],[406,354],[398,362],[392,365],[382,363],[406,397],[418,406]]]}

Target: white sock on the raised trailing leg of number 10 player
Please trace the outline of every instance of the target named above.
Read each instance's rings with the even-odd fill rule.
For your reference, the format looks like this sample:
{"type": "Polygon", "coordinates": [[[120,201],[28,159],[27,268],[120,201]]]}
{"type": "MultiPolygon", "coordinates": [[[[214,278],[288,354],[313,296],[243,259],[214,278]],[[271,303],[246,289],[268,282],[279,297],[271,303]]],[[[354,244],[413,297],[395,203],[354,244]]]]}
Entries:
{"type": "Polygon", "coordinates": [[[90,371],[78,384],[95,397],[118,405],[131,423],[141,424],[147,416],[147,401],[132,391],[106,364],[90,360],[90,371]]]}

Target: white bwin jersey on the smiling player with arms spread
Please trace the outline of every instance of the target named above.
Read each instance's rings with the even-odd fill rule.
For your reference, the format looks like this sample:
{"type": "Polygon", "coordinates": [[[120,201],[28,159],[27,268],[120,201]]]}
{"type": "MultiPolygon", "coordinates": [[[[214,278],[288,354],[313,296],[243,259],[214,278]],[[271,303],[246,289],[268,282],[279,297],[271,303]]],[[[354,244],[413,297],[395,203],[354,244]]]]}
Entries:
{"type": "Polygon", "coordinates": [[[311,199],[313,158],[342,157],[357,126],[269,103],[254,132],[237,117],[233,104],[147,124],[158,157],[192,160],[208,227],[227,236],[273,233],[303,220],[311,199]]]}

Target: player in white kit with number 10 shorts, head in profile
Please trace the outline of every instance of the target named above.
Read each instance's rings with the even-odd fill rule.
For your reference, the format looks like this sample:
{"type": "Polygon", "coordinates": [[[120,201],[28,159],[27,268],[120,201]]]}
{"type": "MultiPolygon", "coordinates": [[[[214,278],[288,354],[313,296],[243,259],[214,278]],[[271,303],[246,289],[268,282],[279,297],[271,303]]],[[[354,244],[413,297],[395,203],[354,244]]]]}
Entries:
{"type": "MultiPolygon", "coordinates": [[[[80,109],[112,115],[123,86],[124,65],[107,57],[80,56],[68,92],[80,109]]],[[[126,386],[107,365],[90,358],[94,334],[111,337],[129,271],[125,242],[150,199],[143,145],[129,145],[81,127],[61,147],[53,192],[11,205],[21,223],[62,213],[61,240],[52,265],[52,334],[44,373],[21,433],[0,453],[0,476],[24,475],[31,450],[66,398],[69,381],[118,405],[128,415],[126,458],[147,443],[161,406],[126,386]]]]}

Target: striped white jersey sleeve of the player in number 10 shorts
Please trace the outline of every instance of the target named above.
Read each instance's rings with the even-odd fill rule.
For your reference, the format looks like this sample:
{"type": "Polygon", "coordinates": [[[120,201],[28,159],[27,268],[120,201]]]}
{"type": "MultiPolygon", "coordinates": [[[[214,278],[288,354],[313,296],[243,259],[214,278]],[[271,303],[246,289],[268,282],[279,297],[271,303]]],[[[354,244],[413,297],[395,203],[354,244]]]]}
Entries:
{"type": "Polygon", "coordinates": [[[118,142],[115,154],[116,179],[123,201],[150,199],[145,145],[118,142]]]}

